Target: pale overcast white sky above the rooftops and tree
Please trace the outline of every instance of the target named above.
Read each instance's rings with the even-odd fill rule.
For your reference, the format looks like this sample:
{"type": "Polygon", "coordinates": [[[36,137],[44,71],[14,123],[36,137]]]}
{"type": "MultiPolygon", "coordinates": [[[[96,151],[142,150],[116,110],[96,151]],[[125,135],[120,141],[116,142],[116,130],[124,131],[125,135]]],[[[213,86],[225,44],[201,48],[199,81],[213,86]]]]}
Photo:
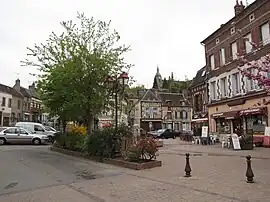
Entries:
{"type": "MultiPolygon", "coordinates": [[[[253,0],[254,1],[254,0],[253,0]]],[[[249,0],[249,3],[253,2],[249,0]]],[[[136,84],[151,87],[157,66],[163,77],[192,79],[205,65],[200,42],[234,16],[235,0],[0,0],[0,83],[19,78],[28,87],[33,67],[22,67],[27,47],[61,30],[77,12],[112,21],[121,42],[131,46],[126,61],[136,84]]],[[[244,4],[246,2],[244,1],[244,4]]]]}

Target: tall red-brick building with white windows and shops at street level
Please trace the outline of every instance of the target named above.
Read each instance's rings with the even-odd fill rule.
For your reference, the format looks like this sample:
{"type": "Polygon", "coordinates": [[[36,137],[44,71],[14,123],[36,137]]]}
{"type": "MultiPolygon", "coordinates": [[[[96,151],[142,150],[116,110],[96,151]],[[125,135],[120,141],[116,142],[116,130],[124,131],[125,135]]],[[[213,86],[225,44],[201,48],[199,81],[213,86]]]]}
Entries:
{"type": "Polygon", "coordinates": [[[210,132],[232,133],[269,125],[270,99],[264,89],[242,76],[237,55],[249,61],[270,53],[270,1],[256,0],[248,6],[236,1],[235,16],[202,41],[208,75],[210,132]],[[254,51],[250,42],[255,43],[254,51]]]}

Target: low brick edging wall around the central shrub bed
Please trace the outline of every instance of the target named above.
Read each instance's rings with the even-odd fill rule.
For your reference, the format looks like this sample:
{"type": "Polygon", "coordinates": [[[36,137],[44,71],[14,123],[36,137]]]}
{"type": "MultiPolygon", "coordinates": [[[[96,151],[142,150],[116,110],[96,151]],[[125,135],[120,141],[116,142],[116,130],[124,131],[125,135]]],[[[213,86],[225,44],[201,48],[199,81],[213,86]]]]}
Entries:
{"type": "Polygon", "coordinates": [[[107,164],[112,164],[115,166],[120,166],[124,168],[130,168],[134,170],[143,170],[143,169],[150,169],[150,168],[155,168],[155,167],[161,167],[162,162],[157,161],[157,160],[151,160],[148,162],[130,162],[126,161],[124,159],[110,159],[110,158],[104,158],[100,159],[100,157],[91,157],[91,156],[86,156],[81,152],[78,151],[71,151],[68,149],[63,149],[59,147],[50,147],[51,151],[59,152],[62,154],[70,155],[70,156],[75,156],[75,157],[82,157],[90,160],[95,160],[95,161],[102,161],[102,163],[107,163],[107,164]]]}

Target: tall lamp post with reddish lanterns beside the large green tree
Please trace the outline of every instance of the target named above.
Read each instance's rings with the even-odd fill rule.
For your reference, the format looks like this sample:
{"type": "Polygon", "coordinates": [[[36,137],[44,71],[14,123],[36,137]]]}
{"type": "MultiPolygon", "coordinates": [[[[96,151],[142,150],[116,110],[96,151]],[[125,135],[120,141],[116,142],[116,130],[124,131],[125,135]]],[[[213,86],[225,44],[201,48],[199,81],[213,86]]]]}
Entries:
{"type": "MultiPolygon", "coordinates": [[[[114,135],[117,133],[118,129],[118,96],[123,94],[125,91],[125,87],[128,85],[128,74],[126,72],[122,72],[118,77],[108,77],[108,82],[112,89],[112,94],[114,95],[114,102],[115,102],[115,132],[114,135]]],[[[113,151],[112,157],[116,157],[116,144],[117,141],[113,140],[113,151]]]]}

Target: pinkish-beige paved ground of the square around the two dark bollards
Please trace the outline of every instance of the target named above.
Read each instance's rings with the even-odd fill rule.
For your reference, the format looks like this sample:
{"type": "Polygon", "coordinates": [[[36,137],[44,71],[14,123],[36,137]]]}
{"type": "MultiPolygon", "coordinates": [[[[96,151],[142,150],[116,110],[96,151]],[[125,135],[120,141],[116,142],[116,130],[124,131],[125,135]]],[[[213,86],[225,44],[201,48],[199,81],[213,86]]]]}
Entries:
{"type": "MultiPolygon", "coordinates": [[[[166,144],[166,142],[165,142],[166,144]]],[[[3,202],[254,202],[269,201],[270,178],[268,159],[253,159],[252,168],[255,183],[245,181],[246,162],[241,156],[191,156],[192,177],[184,178],[185,156],[178,155],[193,149],[194,154],[202,152],[194,145],[166,144],[158,156],[162,160],[161,168],[134,171],[111,165],[88,162],[73,158],[78,165],[99,167],[115,175],[100,175],[96,179],[63,182],[61,184],[32,187],[28,190],[0,193],[3,202]],[[196,149],[194,149],[196,148],[196,149]],[[196,150],[196,151],[195,151],[196,150]],[[170,152],[176,151],[176,153],[170,152]]],[[[44,151],[45,152],[44,148],[44,151]]],[[[209,148],[209,152],[215,153],[209,148]]],[[[33,149],[33,152],[40,149],[33,149]]],[[[227,151],[227,150],[226,150],[227,151]]],[[[1,152],[1,151],[0,151],[1,152]]],[[[16,151],[14,151],[16,152],[16,151]]],[[[21,152],[21,150],[18,150],[21,152]]],[[[51,151],[46,150],[51,153],[51,151]]],[[[205,150],[203,151],[205,152],[205,150]]],[[[71,157],[61,155],[62,160],[71,157]]],[[[43,162],[44,163],[44,162],[43,162]]],[[[34,169],[34,168],[31,168],[34,169]]],[[[39,167],[39,169],[41,169],[39,167]]],[[[0,165],[1,170],[1,165],[0,165]]],[[[61,171],[58,170],[60,173],[61,171]]],[[[31,179],[29,179],[31,180],[31,179]]]]}

